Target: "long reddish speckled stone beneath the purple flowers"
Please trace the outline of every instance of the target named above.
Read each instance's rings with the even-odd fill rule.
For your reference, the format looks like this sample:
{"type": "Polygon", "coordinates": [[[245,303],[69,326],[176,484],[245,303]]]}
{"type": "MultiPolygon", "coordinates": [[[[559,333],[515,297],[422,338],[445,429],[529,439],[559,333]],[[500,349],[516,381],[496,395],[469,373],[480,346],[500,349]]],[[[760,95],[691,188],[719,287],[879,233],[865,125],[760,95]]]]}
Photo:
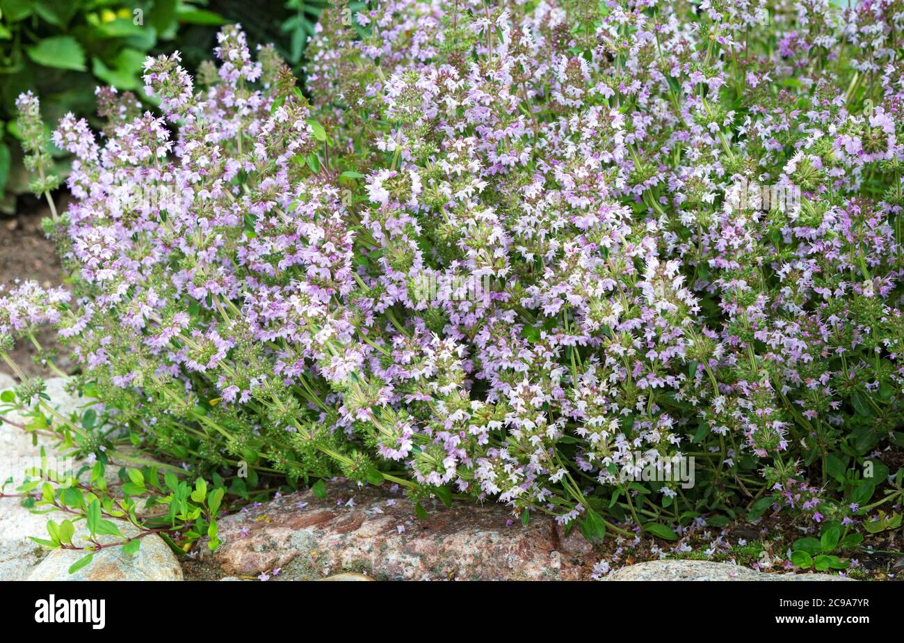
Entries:
{"type": "Polygon", "coordinates": [[[279,568],[271,581],[340,572],[398,581],[589,578],[592,556],[563,543],[547,516],[524,527],[499,504],[425,500],[420,520],[407,497],[383,487],[335,483],[325,499],[304,491],[250,506],[219,521],[223,544],[213,553],[201,544],[201,563],[221,576],[279,568]]]}

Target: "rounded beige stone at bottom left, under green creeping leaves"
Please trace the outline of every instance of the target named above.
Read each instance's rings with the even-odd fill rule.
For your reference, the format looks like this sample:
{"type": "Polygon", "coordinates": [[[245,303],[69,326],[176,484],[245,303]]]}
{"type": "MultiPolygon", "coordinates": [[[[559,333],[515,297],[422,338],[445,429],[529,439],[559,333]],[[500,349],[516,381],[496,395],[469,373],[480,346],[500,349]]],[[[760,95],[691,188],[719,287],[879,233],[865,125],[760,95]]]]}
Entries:
{"type": "MultiPolygon", "coordinates": [[[[117,523],[120,531],[128,536],[137,534],[132,525],[117,523]]],[[[81,532],[83,533],[83,532],[81,532]]],[[[72,539],[78,544],[80,532],[72,539]]],[[[116,536],[100,536],[101,543],[116,542],[116,536]]],[[[179,560],[164,540],[151,534],[141,539],[141,548],[134,556],[122,551],[122,547],[108,547],[94,554],[93,560],[78,572],[69,573],[72,563],[80,560],[84,552],[53,550],[28,576],[29,581],[182,581],[179,560]]]]}

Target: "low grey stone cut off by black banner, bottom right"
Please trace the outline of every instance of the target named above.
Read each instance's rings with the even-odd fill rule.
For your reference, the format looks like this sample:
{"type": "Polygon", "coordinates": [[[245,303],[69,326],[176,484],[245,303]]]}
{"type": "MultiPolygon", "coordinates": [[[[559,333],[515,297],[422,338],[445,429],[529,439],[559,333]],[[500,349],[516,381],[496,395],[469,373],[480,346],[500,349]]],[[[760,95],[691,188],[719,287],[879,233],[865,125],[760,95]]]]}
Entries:
{"type": "Polygon", "coordinates": [[[648,561],[617,569],[607,581],[852,581],[828,573],[764,573],[732,563],[648,561]]]}

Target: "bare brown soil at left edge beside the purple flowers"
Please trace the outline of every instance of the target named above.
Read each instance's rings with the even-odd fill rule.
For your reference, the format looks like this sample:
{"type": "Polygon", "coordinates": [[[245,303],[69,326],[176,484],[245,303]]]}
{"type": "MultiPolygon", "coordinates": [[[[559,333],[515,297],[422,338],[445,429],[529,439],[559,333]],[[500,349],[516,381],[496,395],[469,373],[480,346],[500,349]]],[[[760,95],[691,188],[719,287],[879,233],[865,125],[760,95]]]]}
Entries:
{"type": "MultiPolygon", "coordinates": [[[[64,199],[57,198],[57,209],[65,209],[64,199]]],[[[53,248],[52,241],[44,237],[41,229],[42,218],[50,216],[46,203],[32,196],[20,197],[19,207],[12,216],[0,215],[0,284],[14,284],[16,279],[33,279],[48,288],[62,282],[61,263],[53,248]]],[[[47,349],[57,346],[56,331],[44,328],[37,335],[38,342],[47,349]]],[[[18,341],[10,354],[16,364],[30,375],[50,377],[50,369],[35,364],[36,351],[27,341],[18,341]]],[[[69,361],[61,358],[58,364],[65,370],[69,361]]],[[[6,374],[10,369],[0,362],[0,371],[6,374]]]]}

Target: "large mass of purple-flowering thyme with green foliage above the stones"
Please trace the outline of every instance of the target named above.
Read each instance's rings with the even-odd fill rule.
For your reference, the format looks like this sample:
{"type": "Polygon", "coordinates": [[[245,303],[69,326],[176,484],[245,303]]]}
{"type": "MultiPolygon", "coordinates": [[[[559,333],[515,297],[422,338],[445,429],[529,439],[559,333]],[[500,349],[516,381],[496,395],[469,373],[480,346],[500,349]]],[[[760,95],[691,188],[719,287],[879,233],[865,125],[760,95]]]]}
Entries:
{"type": "Polygon", "coordinates": [[[782,513],[814,533],[796,565],[845,567],[904,495],[902,16],[401,0],[325,11],[305,87],[239,26],[194,76],[148,59],[159,113],[100,90],[102,133],[53,133],[66,288],[0,294],[4,346],[58,326],[97,401],[5,396],[97,462],[22,492],[92,534],[166,531],[150,494],[174,544],[214,546],[223,492],[262,479],[593,541],[782,513]],[[96,487],[111,462],[125,505],[96,487]]]}

